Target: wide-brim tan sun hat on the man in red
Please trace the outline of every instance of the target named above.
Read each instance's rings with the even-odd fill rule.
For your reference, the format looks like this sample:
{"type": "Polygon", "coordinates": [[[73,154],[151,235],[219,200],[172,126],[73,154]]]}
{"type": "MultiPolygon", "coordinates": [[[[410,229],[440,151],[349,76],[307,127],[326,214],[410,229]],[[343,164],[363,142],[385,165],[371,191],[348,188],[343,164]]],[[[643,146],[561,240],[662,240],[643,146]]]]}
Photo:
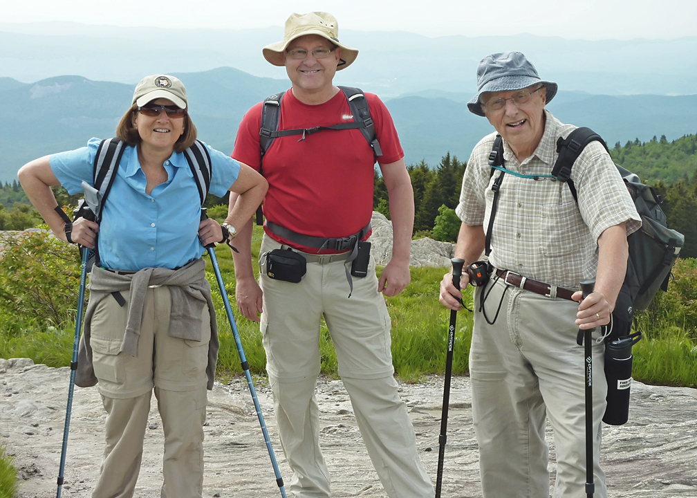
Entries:
{"type": "Polygon", "coordinates": [[[336,18],[325,12],[310,12],[307,14],[291,14],[286,20],[286,29],[283,41],[272,43],[263,47],[264,59],[274,66],[285,66],[284,52],[289,43],[300,38],[300,36],[317,35],[326,38],[334,45],[341,47],[342,58],[337,64],[337,71],[351,66],[351,63],[358,57],[358,50],[347,47],[339,42],[339,22],[336,18]]]}

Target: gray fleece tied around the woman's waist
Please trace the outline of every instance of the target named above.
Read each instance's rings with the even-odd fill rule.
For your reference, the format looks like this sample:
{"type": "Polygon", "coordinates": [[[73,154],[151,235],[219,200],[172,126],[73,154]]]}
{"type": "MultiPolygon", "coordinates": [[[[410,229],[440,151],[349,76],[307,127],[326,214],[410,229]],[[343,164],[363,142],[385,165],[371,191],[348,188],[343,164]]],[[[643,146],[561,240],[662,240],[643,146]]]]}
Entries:
{"type": "Polygon", "coordinates": [[[144,268],[136,273],[123,275],[94,266],[90,274],[90,298],[85,312],[84,334],[80,339],[75,384],[89,387],[97,384],[92,365],[92,348],[89,344],[94,310],[102,299],[114,291],[130,291],[128,320],[119,352],[138,356],[140,326],[143,319],[145,294],[150,286],[167,285],[171,295],[169,336],[187,340],[201,340],[201,312],[208,304],[210,311],[210,343],[208,345],[208,389],[213,388],[215,364],[220,347],[215,322],[215,308],[210,299],[210,284],[206,280],[206,262],[197,259],[181,269],[144,268]]]}

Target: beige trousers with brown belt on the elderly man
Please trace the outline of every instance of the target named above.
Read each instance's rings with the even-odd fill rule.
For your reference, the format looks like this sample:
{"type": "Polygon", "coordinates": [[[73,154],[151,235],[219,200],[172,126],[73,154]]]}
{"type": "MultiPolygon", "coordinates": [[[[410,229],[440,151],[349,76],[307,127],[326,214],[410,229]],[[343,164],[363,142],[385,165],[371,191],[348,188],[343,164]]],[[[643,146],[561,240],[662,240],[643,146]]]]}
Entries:
{"type": "MultiPolygon", "coordinates": [[[[492,276],[493,281],[495,276],[492,276]]],[[[487,285],[486,292],[491,287],[487,285]]],[[[549,497],[549,419],[556,448],[556,498],[585,498],[585,359],[576,344],[579,303],[549,299],[498,280],[481,312],[475,294],[475,325],[470,349],[472,412],[480,446],[484,498],[549,497]]],[[[593,333],[593,461],[595,498],[606,498],[599,465],[601,420],[607,383],[604,344],[593,333]]]]}

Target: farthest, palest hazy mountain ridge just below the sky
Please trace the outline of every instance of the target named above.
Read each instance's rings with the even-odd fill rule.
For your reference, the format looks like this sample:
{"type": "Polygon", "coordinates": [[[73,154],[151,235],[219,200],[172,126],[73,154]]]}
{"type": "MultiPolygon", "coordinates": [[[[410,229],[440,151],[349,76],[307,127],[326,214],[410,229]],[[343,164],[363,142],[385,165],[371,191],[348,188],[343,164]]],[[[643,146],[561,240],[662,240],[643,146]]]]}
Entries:
{"type": "MultiPolygon", "coordinates": [[[[0,22],[0,76],[33,82],[74,74],[135,85],[158,71],[194,73],[229,66],[259,77],[284,78],[284,68],[261,56],[261,48],[281,39],[282,33],[282,27],[171,30],[0,22]]],[[[697,37],[588,41],[495,32],[429,38],[404,31],[342,29],[341,39],[360,54],[351,68],[337,73],[336,82],[383,97],[427,89],[473,93],[477,63],[487,54],[507,50],[525,53],[542,77],[566,91],[697,93],[697,65],[689,56],[697,53],[697,37]]]]}

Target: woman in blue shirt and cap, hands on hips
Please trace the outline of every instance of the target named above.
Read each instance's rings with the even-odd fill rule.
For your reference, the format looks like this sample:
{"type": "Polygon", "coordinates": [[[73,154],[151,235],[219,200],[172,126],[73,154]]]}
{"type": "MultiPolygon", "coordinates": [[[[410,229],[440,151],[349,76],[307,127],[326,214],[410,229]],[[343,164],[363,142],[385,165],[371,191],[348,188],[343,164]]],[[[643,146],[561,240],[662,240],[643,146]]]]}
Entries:
{"type": "Polygon", "coordinates": [[[59,239],[94,248],[75,383],[98,382],[107,410],[106,447],[93,498],[135,490],[153,388],[164,430],[162,496],[201,497],[206,388],[213,387],[217,326],[206,281],[204,246],[229,241],[249,220],[268,183],[247,165],[204,144],[210,193],[240,195],[222,227],[200,221],[199,190],[183,151],[197,132],[176,77],[152,75],[136,86],[116,136],[128,147],[102,206],[100,224],[70,226],[55,211],[51,186],[70,194],[93,187],[99,139],[33,160],[22,187],[59,239]],[[89,188],[85,187],[85,188],[89,188]]]}

